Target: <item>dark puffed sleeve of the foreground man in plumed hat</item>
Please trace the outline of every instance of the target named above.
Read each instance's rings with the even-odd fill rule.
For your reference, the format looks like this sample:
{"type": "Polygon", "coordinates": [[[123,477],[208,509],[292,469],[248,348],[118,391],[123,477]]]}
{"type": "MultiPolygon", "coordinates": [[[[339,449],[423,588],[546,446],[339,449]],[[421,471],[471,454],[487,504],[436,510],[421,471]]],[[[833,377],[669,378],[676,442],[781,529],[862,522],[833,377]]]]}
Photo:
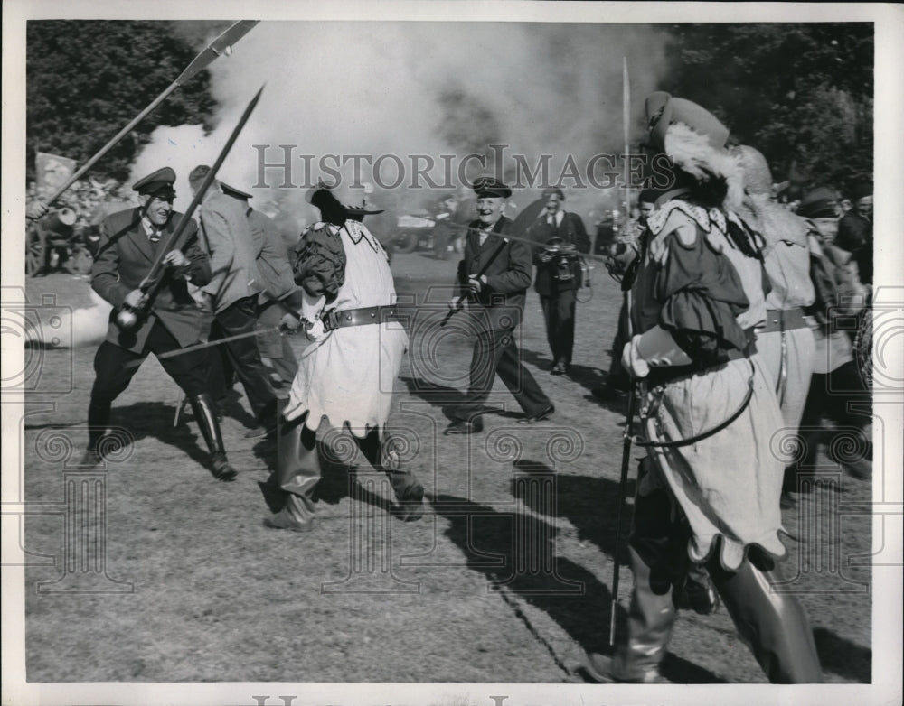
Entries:
{"type": "Polygon", "coordinates": [[[737,316],[749,302],[739,274],[727,256],[702,234],[685,244],[666,236],[668,255],[656,278],[656,299],[663,303],[659,324],[695,361],[715,365],[730,348],[743,350],[748,339],[737,316]]]}

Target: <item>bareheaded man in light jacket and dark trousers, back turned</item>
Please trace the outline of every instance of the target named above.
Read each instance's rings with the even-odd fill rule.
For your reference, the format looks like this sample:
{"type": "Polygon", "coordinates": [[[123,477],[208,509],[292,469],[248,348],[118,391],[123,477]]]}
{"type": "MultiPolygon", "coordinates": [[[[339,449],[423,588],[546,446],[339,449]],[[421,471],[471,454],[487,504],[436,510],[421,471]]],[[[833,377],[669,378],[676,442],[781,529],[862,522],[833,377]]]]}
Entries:
{"type": "MultiPolygon", "coordinates": [[[[189,185],[197,192],[211,168],[201,164],[188,176],[189,185]]],[[[254,250],[254,237],[245,209],[239,201],[220,190],[211,189],[201,203],[201,233],[211,258],[211,281],[202,289],[211,295],[213,323],[210,339],[219,340],[253,334],[257,321],[257,301],[264,291],[254,250]]],[[[253,335],[221,344],[222,376],[212,386],[222,397],[227,392],[231,372],[240,379],[257,426],[245,434],[254,439],[276,432],[277,395],[270,376],[260,359],[258,343],[253,335]]]]}

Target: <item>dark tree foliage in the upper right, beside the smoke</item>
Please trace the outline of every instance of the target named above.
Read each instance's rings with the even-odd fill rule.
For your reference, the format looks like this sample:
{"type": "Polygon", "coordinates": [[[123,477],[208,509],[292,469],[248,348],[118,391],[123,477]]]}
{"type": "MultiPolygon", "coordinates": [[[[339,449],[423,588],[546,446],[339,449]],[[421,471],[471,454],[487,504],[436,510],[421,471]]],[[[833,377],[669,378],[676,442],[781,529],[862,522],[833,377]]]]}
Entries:
{"type": "Polygon", "coordinates": [[[871,23],[678,24],[664,90],[709,108],[776,181],[872,178],[871,23]]]}

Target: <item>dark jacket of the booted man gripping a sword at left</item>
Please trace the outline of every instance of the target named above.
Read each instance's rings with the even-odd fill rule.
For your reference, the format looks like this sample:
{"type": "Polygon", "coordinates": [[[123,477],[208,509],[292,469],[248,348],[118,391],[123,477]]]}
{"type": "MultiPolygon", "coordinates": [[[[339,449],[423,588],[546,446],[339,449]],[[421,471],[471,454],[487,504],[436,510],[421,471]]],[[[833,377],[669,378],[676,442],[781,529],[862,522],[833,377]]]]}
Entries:
{"type": "Polygon", "coordinates": [[[107,340],[121,348],[139,352],[145,346],[148,333],[155,320],[166,327],[180,346],[197,343],[202,330],[202,313],[188,293],[186,277],[196,285],[211,279],[211,267],[207,254],[198,244],[198,227],[189,220],[182,252],[191,265],[184,275],[174,277],[164,271],[163,282],[150,302],[149,313],[135,330],[121,330],[116,322],[117,311],[128,293],[138,288],[150,272],[158,248],[166,246],[181,213],[173,213],[156,244],[148,239],[141,224],[140,209],[127,209],[109,215],[100,224],[98,254],[91,267],[91,287],[113,305],[110,313],[107,340]]]}

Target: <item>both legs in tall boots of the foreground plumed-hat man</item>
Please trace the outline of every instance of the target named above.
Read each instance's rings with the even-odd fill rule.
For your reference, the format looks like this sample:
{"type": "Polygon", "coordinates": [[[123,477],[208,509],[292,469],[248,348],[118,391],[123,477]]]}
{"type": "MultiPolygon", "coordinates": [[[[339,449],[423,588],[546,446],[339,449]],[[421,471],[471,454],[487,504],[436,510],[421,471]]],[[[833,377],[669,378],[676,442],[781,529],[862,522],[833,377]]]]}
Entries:
{"type": "MultiPolygon", "coordinates": [[[[672,507],[663,490],[636,498],[634,531],[629,542],[635,588],[628,611],[626,640],[613,668],[619,679],[642,678],[654,670],[676,618],[673,590],[689,570],[689,528],[670,519],[672,507]]],[[[772,683],[821,683],[819,657],[804,609],[788,593],[773,592],[781,581],[777,565],[756,548],[737,571],[722,568],[718,548],[706,564],[715,589],[735,627],[749,644],[772,683]]]]}

